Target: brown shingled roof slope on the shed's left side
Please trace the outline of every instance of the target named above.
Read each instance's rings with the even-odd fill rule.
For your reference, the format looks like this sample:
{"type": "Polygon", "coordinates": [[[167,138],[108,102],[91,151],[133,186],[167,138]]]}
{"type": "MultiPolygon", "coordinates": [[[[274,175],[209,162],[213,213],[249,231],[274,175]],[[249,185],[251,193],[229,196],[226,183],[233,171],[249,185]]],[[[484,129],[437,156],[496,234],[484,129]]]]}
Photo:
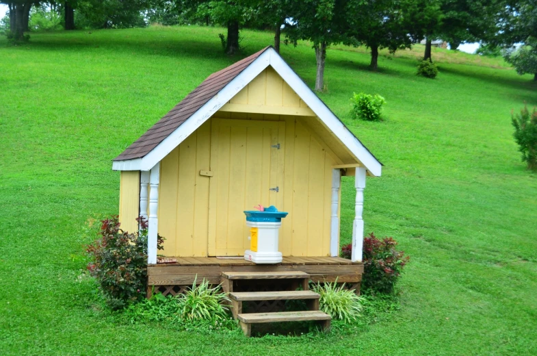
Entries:
{"type": "Polygon", "coordinates": [[[131,144],[123,153],[114,158],[114,161],[133,160],[135,158],[144,157],[152,149],[162,142],[170,133],[181,126],[187,118],[198,111],[200,107],[205,105],[212,97],[214,97],[224,86],[229,84],[239,73],[256,60],[261,53],[269,47],[265,47],[261,51],[244,58],[239,62],[228,66],[213,73],[205,79],[196,89],[192,90],[185,99],[164,115],[158,123],[153,125],[140,138],[131,144]]]}

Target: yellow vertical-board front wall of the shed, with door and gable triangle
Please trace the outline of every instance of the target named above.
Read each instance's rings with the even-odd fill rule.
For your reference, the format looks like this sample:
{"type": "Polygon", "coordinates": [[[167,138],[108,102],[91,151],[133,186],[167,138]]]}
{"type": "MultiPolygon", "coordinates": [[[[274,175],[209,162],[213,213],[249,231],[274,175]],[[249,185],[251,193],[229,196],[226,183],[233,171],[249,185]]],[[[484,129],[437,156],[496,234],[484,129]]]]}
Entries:
{"type": "MultiPolygon", "coordinates": [[[[306,107],[272,68],[229,102],[306,107]]],[[[240,254],[249,244],[241,209],[228,208],[226,214],[214,214],[214,218],[209,210],[235,202],[248,208],[265,202],[289,212],[280,229],[284,255],[329,255],[332,166],[353,163],[348,153],[334,147],[331,133],[315,117],[218,112],[215,118],[276,121],[278,133],[254,124],[215,127],[211,118],[162,160],[159,233],[167,239],[164,255],[240,254]],[[280,150],[272,155],[267,147],[278,143],[280,150]],[[218,164],[211,162],[215,153],[218,164]],[[213,178],[199,174],[216,169],[213,178]],[[211,179],[218,180],[211,184],[211,179]],[[280,191],[259,190],[260,185],[278,186],[280,191]],[[238,238],[228,240],[230,236],[238,238]]]]}

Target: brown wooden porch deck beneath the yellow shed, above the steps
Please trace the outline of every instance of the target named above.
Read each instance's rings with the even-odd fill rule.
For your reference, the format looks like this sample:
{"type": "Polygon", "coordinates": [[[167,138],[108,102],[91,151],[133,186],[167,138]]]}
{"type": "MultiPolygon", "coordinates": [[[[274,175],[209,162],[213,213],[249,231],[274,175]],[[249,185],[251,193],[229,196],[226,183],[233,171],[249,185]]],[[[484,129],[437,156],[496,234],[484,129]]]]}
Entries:
{"type": "MultiPolygon", "coordinates": [[[[222,257],[173,257],[176,263],[150,264],[148,285],[188,286],[207,279],[211,284],[219,284],[222,272],[283,272],[301,271],[310,275],[313,282],[345,282],[356,285],[362,280],[363,264],[351,262],[341,257],[283,257],[280,264],[254,264],[245,259],[222,257]]],[[[177,292],[177,288],[174,288],[177,292]]]]}

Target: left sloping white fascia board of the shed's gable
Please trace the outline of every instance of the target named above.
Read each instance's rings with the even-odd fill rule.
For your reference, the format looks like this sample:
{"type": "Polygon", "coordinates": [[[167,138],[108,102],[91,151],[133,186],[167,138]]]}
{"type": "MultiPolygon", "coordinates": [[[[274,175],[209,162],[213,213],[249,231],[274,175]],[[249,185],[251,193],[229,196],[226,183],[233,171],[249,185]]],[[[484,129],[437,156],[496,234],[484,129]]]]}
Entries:
{"type": "Polygon", "coordinates": [[[192,116],[177,127],[175,131],[162,140],[157,147],[151,150],[147,155],[135,160],[114,161],[112,169],[114,170],[150,170],[160,162],[168,153],[173,151],[183,140],[190,136],[198,127],[207,121],[215,112],[220,110],[225,103],[235,97],[245,86],[255,77],[267,68],[270,64],[270,51],[267,49],[261,53],[252,63],[230,81],[218,94],[212,97],[205,105],[194,112],[192,116]]]}

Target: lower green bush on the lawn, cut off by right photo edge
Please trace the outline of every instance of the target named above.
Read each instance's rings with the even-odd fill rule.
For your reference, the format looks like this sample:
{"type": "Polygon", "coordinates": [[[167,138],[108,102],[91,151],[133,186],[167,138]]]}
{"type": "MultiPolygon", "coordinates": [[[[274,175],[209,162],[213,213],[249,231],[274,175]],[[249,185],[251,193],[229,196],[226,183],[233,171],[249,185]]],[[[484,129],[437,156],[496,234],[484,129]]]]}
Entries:
{"type": "Polygon", "coordinates": [[[537,111],[534,107],[529,114],[527,107],[520,114],[511,113],[511,122],[514,126],[514,140],[519,144],[522,161],[527,162],[527,168],[537,170],[537,111]]]}

